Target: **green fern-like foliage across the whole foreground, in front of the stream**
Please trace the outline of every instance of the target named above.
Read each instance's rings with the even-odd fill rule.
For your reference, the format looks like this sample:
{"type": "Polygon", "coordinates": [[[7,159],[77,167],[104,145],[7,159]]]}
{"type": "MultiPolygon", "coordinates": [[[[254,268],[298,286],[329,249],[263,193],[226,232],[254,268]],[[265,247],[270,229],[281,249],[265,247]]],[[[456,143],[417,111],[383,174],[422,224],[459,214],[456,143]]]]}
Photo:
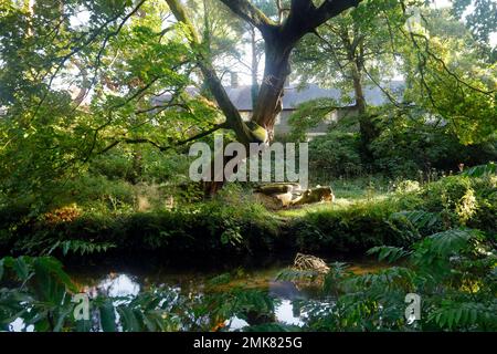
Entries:
{"type": "MultiPolygon", "coordinates": [[[[0,290],[0,325],[9,330],[15,320],[18,330],[31,331],[226,331],[239,319],[245,323],[237,329],[242,331],[495,331],[495,242],[478,230],[450,229],[408,248],[370,249],[380,260],[404,260],[377,273],[357,275],[345,263],[332,263],[321,282],[326,302],[292,302],[303,319],[300,325],[275,322],[278,300],[244,288],[204,289],[199,296],[172,288],[135,296],[98,295],[91,302],[91,320],[75,321],[71,293],[78,289],[59,261],[8,257],[0,261],[0,275],[19,288],[0,290]],[[421,294],[421,321],[406,322],[405,293],[421,294]]],[[[313,281],[316,275],[286,271],[279,279],[313,281]]],[[[216,277],[211,285],[230,279],[229,274],[216,277]]]]}

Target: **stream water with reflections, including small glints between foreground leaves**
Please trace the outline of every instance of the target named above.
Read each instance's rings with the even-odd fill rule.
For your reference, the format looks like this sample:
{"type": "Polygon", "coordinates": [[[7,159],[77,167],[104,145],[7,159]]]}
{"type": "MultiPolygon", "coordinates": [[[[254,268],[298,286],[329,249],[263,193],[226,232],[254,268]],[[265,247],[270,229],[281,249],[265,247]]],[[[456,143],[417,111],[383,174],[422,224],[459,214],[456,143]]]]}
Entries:
{"type": "MultiPolygon", "coordinates": [[[[269,321],[276,321],[282,324],[302,326],[306,322],[308,315],[306,309],[309,309],[309,303],[320,303],[325,306],[332,304],[334,300],[329,296],[324,298],[318,291],[319,287],[311,287],[310,283],[306,285],[297,285],[290,281],[277,280],[277,274],[284,269],[282,266],[266,267],[263,269],[244,269],[239,268],[231,270],[230,273],[220,272],[178,272],[170,269],[163,269],[161,267],[144,269],[120,269],[108,271],[108,269],[85,269],[85,273],[78,271],[70,271],[73,280],[80,284],[81,292],[87,293],[91,298],[96,299],[98,295],[104,298],[113,298],[114,305],[117,306],[123,303],[129,303],[133,298],[140,294],[140,292],[149,291],[152,289],[165,289],[171,294],[168,299],[172,304],[179,301],[180,295],[186,299],[197,299],[203,301],[204,296],[209,294],[226,293],[234,289],[245,290],[263,290],[271,298],[276,299],[274,303],[274,316],[269,317],[258,316],[257,313],[251,313],[251,311],[241,314],[239,316],[244,317],[246,321],[239,316],[212,319],[216,327],[224,327],[229,331],[242,330],[251,324],[264,323],[269,321]],[[89,271],[89,274],[88,274],[89,271]],[[223,279],[213,285],[214,279],[223,279]],[[119,299],[120,298],[120,299],[119,299]],[[127,298],[124,299],[124,298],[127,298]],[[262,320],[262,321],[260,321],[262,320]]],[[[381,264],[369,263],[353,263],[349,269],[355,273],[374,272],[378,269],[383,268],[381,264]]],[[[184,299],[184,298],[183,298],[184,299]]],[[[166,299],[163,299],[166,301],[166,299]]],[[[169,310],[167,310],[169,311],[169,310]]],[[[116,311],[116,319],[119,319],[119,313],[116,311]]],[[[197,321],[194,317],[191,321],[197,321]]],[[[204,321],[208,319],[199,319],[204,321]]],[[[96,331],[102,330],[99,326],[99,319],[96,319],[96,331]]],[[[33,325],[27,326],[22,319],[17,319],[10,323],[12,331],[28,331],[34,330],[33,325]]],[[[184,329],[188,327],[177,327],[184,329]]],[[[215,327],[214,327],[215,329],[215,327]]],[[[120,326],[118,330],[123,330],[120,326]]]]}

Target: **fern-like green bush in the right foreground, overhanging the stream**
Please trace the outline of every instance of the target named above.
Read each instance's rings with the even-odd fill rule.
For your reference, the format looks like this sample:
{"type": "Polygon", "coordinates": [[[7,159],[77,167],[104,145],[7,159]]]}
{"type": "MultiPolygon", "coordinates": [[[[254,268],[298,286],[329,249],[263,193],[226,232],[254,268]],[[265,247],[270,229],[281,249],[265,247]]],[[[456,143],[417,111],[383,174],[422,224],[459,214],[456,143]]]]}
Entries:
{"type": "Polygon", "coordinates": [[[356,275],[331,267],[324,291],[337,300],[310,305],[310,331],[495,331],[495,238],[473,229],[430,235],[409,248],[369,251],[392,263],[356,275]],[[404,317],[405,295],[421,296],[420,319],[404,317]]]}

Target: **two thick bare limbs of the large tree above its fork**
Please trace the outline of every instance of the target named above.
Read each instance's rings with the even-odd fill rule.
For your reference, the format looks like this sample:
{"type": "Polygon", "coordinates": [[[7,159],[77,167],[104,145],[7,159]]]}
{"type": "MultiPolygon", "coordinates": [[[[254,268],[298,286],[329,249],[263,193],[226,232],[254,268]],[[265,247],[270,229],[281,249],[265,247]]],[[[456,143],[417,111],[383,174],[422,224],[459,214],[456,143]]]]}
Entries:
{"type": "MultiPolygon", "coordinates": [[[[201,38],[197,33],[187,9],[179,0],[166,0],[176,19],[190,30],[190,43],[195,49],[201,48],[201,38]]],[[[293,0],[288,11],[281,14],[281,21],[272,20],[248,0],[221,0],[233,13],[255,27],[264,39],[265,66],[264,76],[253,108],[251,122],[266,132],[268,140],[274,136],[274,124],[282,111],[284,83],[290,73],[290,53],[299,40],[307,33],[342,11],[356,7],[360,0],[327,0],[315,4],[310,0],[293,0]],[[282,17],[284,17],[282,19],[282,17]]],[[[248,145],[260,142],[252,129],[243,122],[240,112],[229,98],[221,80],[218,77],[212,62],[198,52],[199,66],[210,91],[226,117],[228,127],[233,129],[236,139],[248,145]]],[[[214,192],[219,183],[210,184],[210,192],[214,192]]]]}

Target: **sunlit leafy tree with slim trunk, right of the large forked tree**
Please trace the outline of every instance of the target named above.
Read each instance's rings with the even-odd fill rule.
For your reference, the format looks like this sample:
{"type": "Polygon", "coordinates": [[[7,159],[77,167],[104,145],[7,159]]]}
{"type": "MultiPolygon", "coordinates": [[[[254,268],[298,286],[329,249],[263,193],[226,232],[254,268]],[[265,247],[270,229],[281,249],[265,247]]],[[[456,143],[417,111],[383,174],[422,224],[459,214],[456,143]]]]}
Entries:
{"type": "MultiPolygon", "coordinates": [[[[306,38],[296,51],[302,80],[339,87],[346,100],[352,93],[359,112],[366,106],[361,83],[369,82],[380,86],[402,114],[424,111],[464,144],[490,139],[497,122],[495,67],[482,55],[472,32],[448,9],[420,6],[409,18],[405,7],[371,10],[378,3],[364,1],[328,21],[318,35],[306,38]],[[382,85],[392,71],[404,80],[403,95],[382,85]]],[[[320,98],[299,106],[290,117],[296,135],[322,122],[340,104],[349,104],[346,100],[320,98]]],[[[378,115],[378,110],[373,112],[378,115]]],[[[370,115],[359,118],[361,140],[367,145],[369,132],[381,132],[370,115]]]]}

